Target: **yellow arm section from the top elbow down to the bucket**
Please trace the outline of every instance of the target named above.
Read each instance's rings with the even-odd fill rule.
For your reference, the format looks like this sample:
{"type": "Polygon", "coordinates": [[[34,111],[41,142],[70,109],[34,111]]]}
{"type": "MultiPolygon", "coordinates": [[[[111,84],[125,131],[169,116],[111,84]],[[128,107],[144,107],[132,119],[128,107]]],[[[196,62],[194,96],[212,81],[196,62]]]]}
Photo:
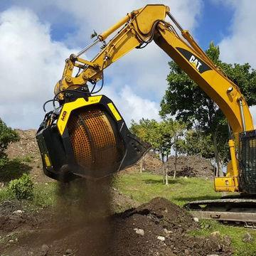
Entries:
{"type": "MultiPolygon", "coordinates": [[[[77,88],[85,85],[88,81],[97,82],[102,79],[102,71],[115,61],[122,58],[123,55],[129,53],[137,46],[140,46],[151,35],[152,28],[156,21],[164,20],[166,12],[169,11],[168,6],[164,5],[148,5],[143,9],[133,11],[127,14],[122,20],[109,28],[98,36],[100,41],[105,41],[107,36],[116,32],[118,28],[124,26],[117,35],[107,43],[99,54],[91,61],[95,67],[88,65],[78,77],[72,77],[73,68],[78,59],[68,59],[68,66],[64,69],[63,78],[55,86],[55,94],[60,91],[77,88]]],[[[66,64],[67,65],[67,64],[66,64]]]]}

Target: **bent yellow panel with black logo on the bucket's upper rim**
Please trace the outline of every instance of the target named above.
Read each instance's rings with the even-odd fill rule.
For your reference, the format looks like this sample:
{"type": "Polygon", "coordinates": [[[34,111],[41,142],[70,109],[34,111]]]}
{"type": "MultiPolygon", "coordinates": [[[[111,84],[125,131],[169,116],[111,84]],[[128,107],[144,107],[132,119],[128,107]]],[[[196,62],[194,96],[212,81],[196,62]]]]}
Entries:
{"type": "Polygon", "coordinates": [[[70,113],[73,110],[76,110],[79,107],[84,107],[87,105],[99,103],[101,98],[102,98],[102,95],[98,95],[98,96],[88,97],[87,101],[84,98],[78,98],[78,100],[75,100],[74,102],[65,103],[63,105],[63,109],[61,110],[60,117],[58,118],[58,122],[57,122],[57,127],[58,127],[60,134],[61,135],[63,134],[65,127],[67,125],[70,113]]]}

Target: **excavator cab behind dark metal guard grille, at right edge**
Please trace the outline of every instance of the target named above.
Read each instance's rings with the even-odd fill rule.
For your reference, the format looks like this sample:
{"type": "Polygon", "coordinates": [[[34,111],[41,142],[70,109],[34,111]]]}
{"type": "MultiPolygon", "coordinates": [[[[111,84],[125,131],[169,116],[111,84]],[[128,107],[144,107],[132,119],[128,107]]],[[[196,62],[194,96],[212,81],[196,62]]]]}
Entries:
{"type": "Polygon", "coordinates": [[[239,135],[240,190],[256,194],[256,130],[239,135]]]}

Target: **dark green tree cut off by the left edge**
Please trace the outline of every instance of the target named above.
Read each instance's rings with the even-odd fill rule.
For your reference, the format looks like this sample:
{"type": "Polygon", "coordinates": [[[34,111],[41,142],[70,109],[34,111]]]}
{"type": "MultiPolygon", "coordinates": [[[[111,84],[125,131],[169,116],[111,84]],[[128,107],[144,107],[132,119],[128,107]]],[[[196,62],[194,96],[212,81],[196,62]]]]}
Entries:
{"type": "Polygon", "coordinates": [[[4,121],[0,118],[0,166],[3,166],[7,161],[5,151],[11,142],[18,142],[19,136],[16,131],[7,127],[4,121]]]}

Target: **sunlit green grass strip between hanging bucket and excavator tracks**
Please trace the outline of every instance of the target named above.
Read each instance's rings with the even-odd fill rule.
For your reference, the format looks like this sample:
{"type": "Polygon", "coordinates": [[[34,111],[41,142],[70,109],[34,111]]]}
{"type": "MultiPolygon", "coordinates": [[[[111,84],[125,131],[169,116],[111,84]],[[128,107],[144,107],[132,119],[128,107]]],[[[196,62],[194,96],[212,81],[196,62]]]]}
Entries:
{"type": "Polygon", "coordinates": [[[140,203],[161,196],[183,206],[188,201],[216,199],[221,196],[213,190],[213,181],[205,178],[169,178],[169,185],[164,186],[161,176],[132,173],[117,176],[114,186],[140,203]]]}

